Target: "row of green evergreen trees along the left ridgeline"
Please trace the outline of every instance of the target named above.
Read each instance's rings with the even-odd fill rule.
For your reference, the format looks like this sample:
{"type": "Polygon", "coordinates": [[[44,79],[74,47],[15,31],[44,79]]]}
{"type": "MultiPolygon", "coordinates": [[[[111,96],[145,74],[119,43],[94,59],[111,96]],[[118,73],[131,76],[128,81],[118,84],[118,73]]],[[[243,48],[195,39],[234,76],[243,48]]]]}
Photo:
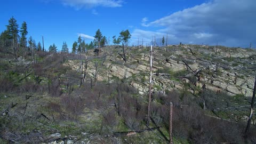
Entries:
{"type": "MultiPolygon", "coordinates": [[[[21,51],[46,51],[44,49],[44,45],[42,46],[41,42],[36,43],[36,41],[28,35],[28,27],[27,23],[23,21],[21,28],[19,29],[19,25],[17,20],[14,17],[10,18],[9,25],[6,26],[6,30],[4,30],[0,35],[0,51],[5,53],[14,53],[15,57],[17,52],[21,51]]],[[[120,44],[124,43],[126,46],[131,38],[131,34],[129,30],[122,30],[119,33],[119,37],[113,36],[113,43],[120,44]]],[[[100,48],[105,47],[108,44],[107,37],[103,36],[100,29],[95,32],[94,41],[90,43],[85,43],[85,39],[82,39],[81,36],[78,37],[77,41],[75,41],[72,45],[71,52],[72,53],[85,53],[87,50],[94,49],[95,47],[100,48]]],[[[49,46],[49,52],[57,53],[57,46],[53,43],[49,46]]],[[[68,53],[68,45],[66,42],[63,42],[61,52],[68,53]]]]}

